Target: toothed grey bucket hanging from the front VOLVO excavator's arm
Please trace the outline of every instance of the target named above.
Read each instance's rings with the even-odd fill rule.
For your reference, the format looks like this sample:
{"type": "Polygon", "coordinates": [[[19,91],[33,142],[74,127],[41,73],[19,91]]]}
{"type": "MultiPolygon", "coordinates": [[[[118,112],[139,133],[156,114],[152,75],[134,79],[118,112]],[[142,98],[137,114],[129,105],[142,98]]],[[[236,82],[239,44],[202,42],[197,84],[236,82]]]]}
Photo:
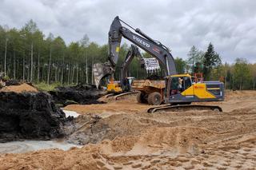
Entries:
{"type": "Polygon", "coordinates": [[[110,63],[96,63],[93,65],[94,82],[98,88],[102,78],[114,73],[114,69],[110,66],[110,63]]]}

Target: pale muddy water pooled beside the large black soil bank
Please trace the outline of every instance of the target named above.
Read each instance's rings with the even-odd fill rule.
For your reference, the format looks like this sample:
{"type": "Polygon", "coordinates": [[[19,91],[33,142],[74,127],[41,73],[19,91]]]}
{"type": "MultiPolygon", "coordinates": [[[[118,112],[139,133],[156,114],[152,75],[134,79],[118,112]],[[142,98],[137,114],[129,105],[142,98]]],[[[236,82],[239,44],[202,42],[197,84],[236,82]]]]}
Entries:
{"type": "MultiPolygon", "coordinates": [[[[79,114],[74,111],[63,110],[66,113],[66,117],[78,117],[79,114]]],[[[81,148],[82,145],[69,144],[66,141],[56,140],[24,140],[24,141],[11,141],[6,143],[0,143],[0,153],[22,153],[37,151],[48,148],[60,148],[62,150],[68,150],[71,147],[81,148]]]]}

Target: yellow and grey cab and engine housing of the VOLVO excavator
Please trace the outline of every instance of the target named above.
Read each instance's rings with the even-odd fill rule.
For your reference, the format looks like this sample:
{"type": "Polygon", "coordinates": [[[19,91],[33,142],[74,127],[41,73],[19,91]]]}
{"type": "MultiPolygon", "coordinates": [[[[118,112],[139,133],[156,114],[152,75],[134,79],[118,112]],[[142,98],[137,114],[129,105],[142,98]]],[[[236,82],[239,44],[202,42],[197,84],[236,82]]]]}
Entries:
{"type": "Polygon", "coordinates": [[[166,102],[170,104],[224,100],[224,85],[222,82],[193,82],[189,74],[166,77],[166,87],[166,102]]]}

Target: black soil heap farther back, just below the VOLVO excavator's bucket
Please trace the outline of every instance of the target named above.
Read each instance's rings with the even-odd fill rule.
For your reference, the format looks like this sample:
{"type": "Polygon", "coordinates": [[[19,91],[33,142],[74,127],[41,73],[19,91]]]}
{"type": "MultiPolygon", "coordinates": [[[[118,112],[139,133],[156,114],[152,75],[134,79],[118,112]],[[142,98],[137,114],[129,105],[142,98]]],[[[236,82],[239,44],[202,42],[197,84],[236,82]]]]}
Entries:
{"type": "Polygon", "coordinates": [[[49,92],[54,101],[63,106],[70,104],[99,104],[101,101],[97,101],[99,97],[102,97],[104,92],[96,88],[95,85],[75,85],[69,87],[58,87],[54,91],[49,92]]]}

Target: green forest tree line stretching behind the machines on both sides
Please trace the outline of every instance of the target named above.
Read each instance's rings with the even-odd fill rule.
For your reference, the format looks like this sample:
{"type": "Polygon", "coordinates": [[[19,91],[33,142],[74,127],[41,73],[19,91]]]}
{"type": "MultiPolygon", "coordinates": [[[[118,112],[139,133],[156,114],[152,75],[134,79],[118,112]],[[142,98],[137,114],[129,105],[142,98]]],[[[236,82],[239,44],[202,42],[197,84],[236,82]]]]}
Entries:
{"type": "MultiPolygon", "coordinates": [[[[122,61],[129,45],[122,45],[114,77],[119,80],[122,61]]],[[[0,26],[0,72],[5,78],[34,83],[75,85],[94,83],[92,65],[107,61],[108,46],[90,42],[85,34],[79,41],[66,42],[53,34],[46,36],[30,20],[21,29],[0,26]]],[[[142,53],[150,57],[148,53],[142,53]]],[[[234,64],[222,63],[221,57],[209,44],[206,51],[192,46],[188,59],[175,58],[178,73],[203,73],[205,80],[224,81],[226,89],[255,89],[256,64],[237,58],[234,64]]],[[[138,59],[130,64],[129,75],[146,78],[138,59]]],[[[158,75],[163,76],[163,69],[158,75]]]]}

